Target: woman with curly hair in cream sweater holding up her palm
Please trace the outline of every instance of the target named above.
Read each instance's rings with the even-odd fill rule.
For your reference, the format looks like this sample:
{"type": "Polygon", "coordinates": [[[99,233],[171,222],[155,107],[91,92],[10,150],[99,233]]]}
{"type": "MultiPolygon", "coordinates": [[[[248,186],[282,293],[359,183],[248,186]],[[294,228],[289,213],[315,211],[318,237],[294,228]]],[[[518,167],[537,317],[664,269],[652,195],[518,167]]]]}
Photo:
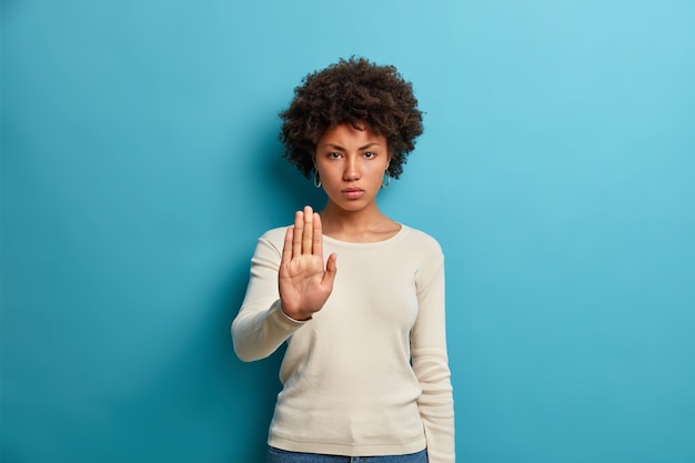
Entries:
{"type": "Polygon", "coordinates": [[[288,342],[268,462],[453,463],[443,254],[376,204],[422,133],[412,87],[340,60],[281,118],[285,157],[328,201],[260,238],[232,323],[244,361],[288,342]]]}

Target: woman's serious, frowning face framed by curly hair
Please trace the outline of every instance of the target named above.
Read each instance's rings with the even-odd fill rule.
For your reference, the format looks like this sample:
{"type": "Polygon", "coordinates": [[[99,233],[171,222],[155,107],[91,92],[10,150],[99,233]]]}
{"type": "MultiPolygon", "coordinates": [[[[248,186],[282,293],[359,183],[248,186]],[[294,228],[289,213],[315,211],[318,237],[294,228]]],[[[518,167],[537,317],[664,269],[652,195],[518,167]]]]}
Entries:
{"type": "Polygon", "coordinates": [[[383,135],[350,123],[326,130],[316,143],[314,163],[329,207],[353,212],[375,209],[390,161],[383,135]]]}

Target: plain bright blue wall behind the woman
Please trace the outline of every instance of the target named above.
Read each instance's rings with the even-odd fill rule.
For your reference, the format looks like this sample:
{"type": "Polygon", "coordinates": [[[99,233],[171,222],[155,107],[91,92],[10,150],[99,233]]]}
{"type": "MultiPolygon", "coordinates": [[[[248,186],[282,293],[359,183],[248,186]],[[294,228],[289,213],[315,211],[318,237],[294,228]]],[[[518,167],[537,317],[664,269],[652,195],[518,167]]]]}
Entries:
{"type": "Polygon", "coordinates": [[[695,3],[2,1],[2,462],[261,462],[229,324],[323,199],[278,111],[397,66],[383,210],[440,240],[460,462],[695,462],[695,3]]]}

